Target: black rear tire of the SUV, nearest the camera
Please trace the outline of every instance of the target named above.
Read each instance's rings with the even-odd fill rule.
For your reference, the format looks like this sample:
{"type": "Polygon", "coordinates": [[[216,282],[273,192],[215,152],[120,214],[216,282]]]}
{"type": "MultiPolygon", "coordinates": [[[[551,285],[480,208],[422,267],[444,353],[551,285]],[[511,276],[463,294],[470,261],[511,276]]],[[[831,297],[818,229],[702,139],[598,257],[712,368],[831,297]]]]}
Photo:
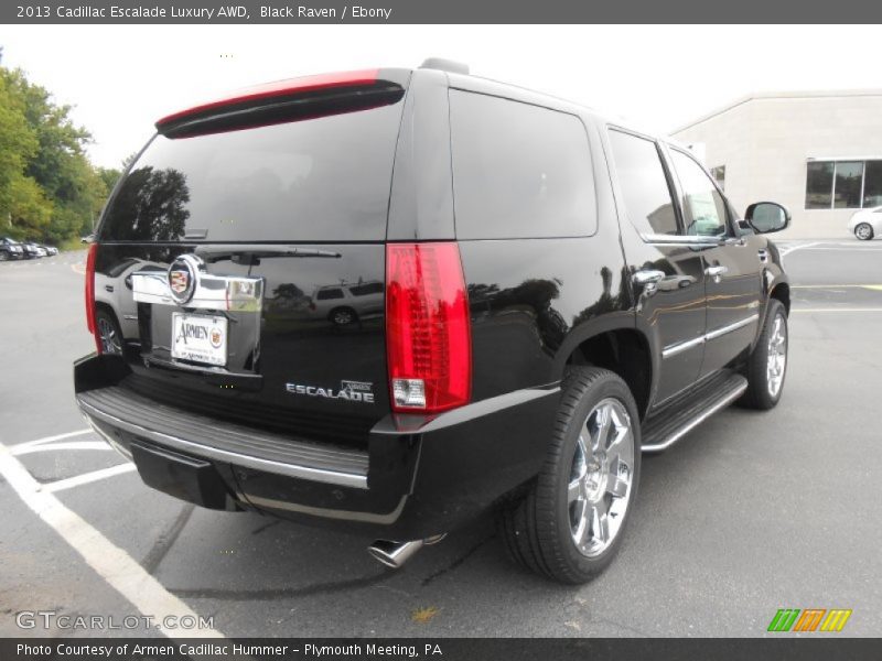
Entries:
{"type": "MultiPolygon", "coordinates": [[[[613,419],[621,418],[621,411],[614,413],[613,419]]],[[[612,429],[619,429],[621,432],[619,423],[614,422],[612,429]]],[[[590,429],[588,431],[590,432],[590,429]]],[[[627,436],[623,436],[621,443],[621,447],[624,448],[628,444],[627,436]]],[[[609,445],[612,449],[614,443],[609,445]]],[[[509,556],[518,564],[560,583],[585,583],[602,572],[621,548],[630,513],[634,509],[639,483],[639,415],[625,382],[605,369],[572,368],[562,386],[560,408],[548,454],[536,481],[529,486],[527,494],[520,500],[507,503],[498,512],[499,537],[504,540],[509,556]],[[578,509],[578,502],[572,502],[568,498],[568,487],[571,486],[571,480],[580,479],[572,476],[576,460],[579,458],[577,453],[580,452],[580,433],[591,422],[595,411],[609,405],[606,402],[617,402],[615,410],[621,409],[626,413],[624,422],[631,431],[632,465],[626,472],[630,475],[630,486],[624,501],[616,501],[616,503],[623,502],[624,509],[613,513],[610,506],[609,516],[605,517],[607,530],[609,525],[617,523],[611,540],[606,542],[607,545],[598,553],[588,555],[584,551],[580,551],[574,541],[577,533],[572,530],[572,508],[577,506],[578,509]],[[614,517],[615,521],[610,517],[614,517]]],[[[604,457],[601,464],[605,464],[605,453],[592,452],[591,459],[595,460],[601,454],[604,457]]],[[[617,472],[616,474],[624,475],[617,472]]],[[[610,483],[606,480],[602,484],[610,483]]],[[[601,499],[609,497],[611,502],[615,498],[607,492],[606,486],[599,488],[596,494],[601,495],[601,499]]]]}

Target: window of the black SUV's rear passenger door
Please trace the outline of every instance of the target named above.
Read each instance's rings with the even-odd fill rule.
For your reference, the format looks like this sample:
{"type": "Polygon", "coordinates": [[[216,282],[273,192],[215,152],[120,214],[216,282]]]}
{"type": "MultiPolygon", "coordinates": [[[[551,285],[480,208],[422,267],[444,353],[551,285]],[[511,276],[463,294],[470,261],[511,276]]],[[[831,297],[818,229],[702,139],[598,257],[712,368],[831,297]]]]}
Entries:
{"type": "Polygon", "coordinates": [[[655,143],[621,131],[610,131],[610,144],[631,223],[644,235],[676,235],[674,199],[655,143]]]}

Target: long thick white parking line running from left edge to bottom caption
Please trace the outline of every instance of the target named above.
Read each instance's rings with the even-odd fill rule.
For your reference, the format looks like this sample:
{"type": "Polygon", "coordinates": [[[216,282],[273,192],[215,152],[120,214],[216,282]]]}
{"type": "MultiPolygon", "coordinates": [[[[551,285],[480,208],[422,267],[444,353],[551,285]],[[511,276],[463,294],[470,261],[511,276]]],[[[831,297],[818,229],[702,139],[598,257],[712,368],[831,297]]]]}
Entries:
{"type": "MultiPolygon", "coordinates": [[[[89,525],[79,514],[67,509],[55,496],[41,489],[24,466],[0,443],[0,475],[15,490],[24,503],[45,521],[61,538],[86,561],[110,587],[131,603],[143,615],[155,618],[158,628],[166,636],[181,635],[179,629],[169,629],[163,618],[174,616],[198,616],[181,599],[166,590],[162,584],[122,549],[110,542],[98,530],[89,525]]],[[[185,620],[186,621],[186,620],[185,620]]],[[[187,629],[192,638],[223,637],[216,629],[187,629]]]]}

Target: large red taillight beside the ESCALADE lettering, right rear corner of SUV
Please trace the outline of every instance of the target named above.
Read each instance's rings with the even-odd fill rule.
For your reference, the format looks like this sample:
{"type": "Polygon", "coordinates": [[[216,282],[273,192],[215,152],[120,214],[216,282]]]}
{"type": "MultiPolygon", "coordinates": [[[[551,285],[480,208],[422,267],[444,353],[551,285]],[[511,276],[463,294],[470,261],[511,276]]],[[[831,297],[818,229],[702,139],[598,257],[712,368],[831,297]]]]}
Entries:
{"type": "Polygon", "coordinates": [[[469,402],[472,338],[456,243],[386,247],[386,343],[394,411],[469,402]]]}

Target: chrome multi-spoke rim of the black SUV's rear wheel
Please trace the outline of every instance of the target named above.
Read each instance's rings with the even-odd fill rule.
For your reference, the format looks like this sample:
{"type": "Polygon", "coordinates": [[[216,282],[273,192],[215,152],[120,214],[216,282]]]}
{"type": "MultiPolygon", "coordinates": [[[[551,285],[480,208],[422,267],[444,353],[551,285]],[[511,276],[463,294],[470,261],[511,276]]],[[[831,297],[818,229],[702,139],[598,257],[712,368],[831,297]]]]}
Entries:
{"type": "Polygon", "coordinates": [[[572,541],[589,557],[609,549],[625,519],[634,474],[631,424],[625,407],[609,398],[592,409],[579,434],[567,506],[572,541]]]}

